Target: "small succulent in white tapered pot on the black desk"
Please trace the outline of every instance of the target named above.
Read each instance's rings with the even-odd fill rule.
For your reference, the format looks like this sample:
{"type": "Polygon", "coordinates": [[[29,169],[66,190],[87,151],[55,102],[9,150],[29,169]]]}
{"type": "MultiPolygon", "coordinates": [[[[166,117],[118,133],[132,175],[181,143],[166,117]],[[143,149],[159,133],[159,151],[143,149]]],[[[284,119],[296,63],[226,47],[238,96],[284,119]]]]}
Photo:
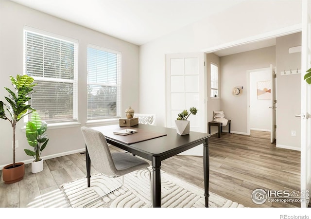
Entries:
{"type": "Polygon", "coordinates": [[[189,111],[183,110],[178,114],[175,120],[176,131],[179,135],[187,135],[190,133],[190,121],[187,119],[191,114],[195,115],[198,110],[195,107],[191,107],[189,111]]]}

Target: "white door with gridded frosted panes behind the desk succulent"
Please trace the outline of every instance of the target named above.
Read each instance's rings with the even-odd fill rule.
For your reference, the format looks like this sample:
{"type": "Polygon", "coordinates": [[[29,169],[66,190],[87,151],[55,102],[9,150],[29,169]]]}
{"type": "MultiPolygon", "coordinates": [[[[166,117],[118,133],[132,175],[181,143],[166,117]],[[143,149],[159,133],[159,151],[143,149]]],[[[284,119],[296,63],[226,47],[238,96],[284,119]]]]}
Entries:
{"type": "MultiPolygon", "coordinates": [[[[207,133],[205,82],[204,53],[166,55],[166,127],[176,128],[178,113],[196,107],[188,118],[190,131],[207,133]]],[[[182,154],[203,156],[203,146],[182,154]]]]}

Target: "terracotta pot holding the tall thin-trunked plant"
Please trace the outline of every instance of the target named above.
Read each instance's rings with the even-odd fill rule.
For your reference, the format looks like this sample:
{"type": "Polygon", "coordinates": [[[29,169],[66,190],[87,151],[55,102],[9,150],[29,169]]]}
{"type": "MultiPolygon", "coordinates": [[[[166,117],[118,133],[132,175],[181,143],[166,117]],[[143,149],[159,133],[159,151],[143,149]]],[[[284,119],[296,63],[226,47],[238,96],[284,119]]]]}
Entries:
{"type": "Polygon", "coordinates": [[[9,164],[3,167],[2,175],[3,181],[5,184],[16,183],[24,178],[25,174],[25,164],[24,163],[15,163],[15,167],[13,168],[13,164],[9,164]]]}

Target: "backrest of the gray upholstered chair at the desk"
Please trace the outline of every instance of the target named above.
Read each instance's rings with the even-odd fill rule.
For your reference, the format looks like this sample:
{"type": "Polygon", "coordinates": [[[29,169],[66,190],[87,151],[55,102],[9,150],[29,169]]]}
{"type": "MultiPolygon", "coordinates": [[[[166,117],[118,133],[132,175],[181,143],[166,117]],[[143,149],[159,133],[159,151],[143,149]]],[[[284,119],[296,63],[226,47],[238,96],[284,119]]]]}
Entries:
{"type": "Polygon", "coordinates": [[[102,132],[81,127],[91,164],[105,176],[118,176],[111,152],[102,132]]]}

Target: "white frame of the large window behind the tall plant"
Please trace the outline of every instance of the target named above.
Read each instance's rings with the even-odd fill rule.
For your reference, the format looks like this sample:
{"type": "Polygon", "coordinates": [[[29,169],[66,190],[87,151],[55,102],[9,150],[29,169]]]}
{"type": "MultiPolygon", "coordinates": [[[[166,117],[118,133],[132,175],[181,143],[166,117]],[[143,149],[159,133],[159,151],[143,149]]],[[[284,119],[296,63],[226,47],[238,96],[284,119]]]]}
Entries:
{"type": "MultiPolygon", "coordinates": [[[[23,74],[26,73],[26,32],[33,33],[36,35],[41,35],[44,37],[54,38],[56,40],[61,40],[65,42],[72,43],[74,45],[74,53],[73,53],[73,79],[61,79],[61,78],[52,78],[52,77],[40,77],[40,76],[32,76],[35,81],[51,81],[51,82],[64,82],[64,83],[72,83],[73,89],[73,105],[72,105],[72,119],[68,120],[59,120],[55,122],[47,121],[48,127],[50,128],[69,128],[69,127],[76,127],[79,126],[81,123],[79,122],[79,109],[78,109],[78,53],[79,53],[79,45],[78,40],[64,37],[61,35],[53,34],[50,32],[46,32],[43,30],[39,30],[36,28],[32,28],[29,26],[24,26],[23,28],[23,74]]],[[[24,117],[24,123],[28,121],[28,116],[24,117]]]]}

